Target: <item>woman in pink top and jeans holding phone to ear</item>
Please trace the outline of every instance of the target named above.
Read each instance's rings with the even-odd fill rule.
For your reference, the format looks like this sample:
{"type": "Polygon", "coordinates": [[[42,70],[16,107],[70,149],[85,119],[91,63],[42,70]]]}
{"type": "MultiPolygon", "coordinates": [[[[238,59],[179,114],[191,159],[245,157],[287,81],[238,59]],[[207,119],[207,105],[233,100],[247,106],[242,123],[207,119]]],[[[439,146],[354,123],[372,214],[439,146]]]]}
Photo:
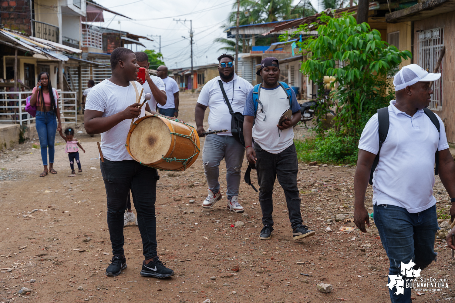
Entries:
{"type": "Polygon", "coordinates": [[[58,93],[52,87],[49,74],[46,72],[40,73],[38,75],[38,83],[33,88],[30,98],[30,105],[36,105],[36,132],[40,138],[41,159],[44,165],[44,171],[40,174],[40,177],[44,177],[48,172],[57,174],[52,166],[54,164],[56,130],[61,131],[60,109],[57,103],[58,98],[58,93]],[[58,124],[56,120],[58,120],[58,124]],[[48,147],[49,170],[47,168],[48,147]]]}

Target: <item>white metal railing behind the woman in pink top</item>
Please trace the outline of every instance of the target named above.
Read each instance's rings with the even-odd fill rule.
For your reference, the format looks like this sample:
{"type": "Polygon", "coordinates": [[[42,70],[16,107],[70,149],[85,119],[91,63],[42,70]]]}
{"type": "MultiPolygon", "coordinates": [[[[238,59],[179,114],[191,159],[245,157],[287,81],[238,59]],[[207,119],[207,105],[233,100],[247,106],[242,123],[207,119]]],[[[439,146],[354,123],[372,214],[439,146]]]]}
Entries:
{"type": "MultiPolygon", "coordinates": [[[[77,92],[57,89],[61,123],[77,124],[77,92]]],[[[30,125],[35,117],[25,111],[25,99],[31,91],[5,92],[0,91],[0,123],[24,123],[30,125]]]]}

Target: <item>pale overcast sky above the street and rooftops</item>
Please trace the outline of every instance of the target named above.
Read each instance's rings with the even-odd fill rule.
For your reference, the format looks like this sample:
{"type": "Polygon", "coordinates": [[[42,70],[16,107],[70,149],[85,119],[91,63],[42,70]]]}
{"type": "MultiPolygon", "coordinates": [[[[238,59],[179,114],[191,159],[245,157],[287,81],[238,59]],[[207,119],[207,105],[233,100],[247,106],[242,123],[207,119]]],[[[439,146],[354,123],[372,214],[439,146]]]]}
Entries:
{"type": "MultiPolygon", "coordinates": [[[[296,5],[299,1],[293,0],[296,5]]],[[[161,52],[166,65],[173,69],[176,67],[191,66],[190,43],[182,36],[189,38],[190,22],[194,31],[193,65],[206,65],[216,62],[222,52],[219,43],[213,43],[218,37],[226,37],[222,25],[227,24],[227,16],[233,10],[235,0],[96,0],[97,3],[126,15],[133,20],[126,19],[108,12],[104,12],[104,23],[94,22],[115,30],[125,30],[136,35],[154,35],[150,37],[155,41],[141,39],[147,49],[157,50],[161,35],[161,52]],[[182,21],[174,21],[182,20],[182,21]],[[183,22],[183,20],[187,20],[183,22]],[[120,21],[120,23],[119,23],[120,21]]],[[[313,6],[318,1],[311,0],[313,6]]],[[[132,46],[136,51],[136,45],[132,46]]],[[[144,50],[140,45],[137,50],[144,50]]],[[[156,67],[155,67],[156,68],[156,67]]]]}

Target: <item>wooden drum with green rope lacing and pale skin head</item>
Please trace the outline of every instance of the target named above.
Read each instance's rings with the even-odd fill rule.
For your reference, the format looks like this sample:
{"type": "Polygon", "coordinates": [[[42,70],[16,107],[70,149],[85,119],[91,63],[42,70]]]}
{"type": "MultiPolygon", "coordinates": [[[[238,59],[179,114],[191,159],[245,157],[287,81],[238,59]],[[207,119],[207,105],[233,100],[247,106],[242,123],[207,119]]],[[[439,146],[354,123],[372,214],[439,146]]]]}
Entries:
{"type": "Polygon", "coordinates": [[[126,138],[126,149],[141,164],[182,171],[196,161],[200,144],[191,125],[161,115],[148,115],[134,122],[126,138]]]}

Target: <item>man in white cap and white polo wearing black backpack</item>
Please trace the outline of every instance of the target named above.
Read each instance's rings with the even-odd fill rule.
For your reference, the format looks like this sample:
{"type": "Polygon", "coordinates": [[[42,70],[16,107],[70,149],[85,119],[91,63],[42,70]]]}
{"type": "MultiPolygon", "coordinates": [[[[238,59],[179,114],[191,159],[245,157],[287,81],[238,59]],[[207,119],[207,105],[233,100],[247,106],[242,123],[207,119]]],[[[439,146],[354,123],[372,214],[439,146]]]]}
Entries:
{"type": "MultiPolygon", "coordinates": [[[[390,260],[388,285],[392,302],[409,303],[411,288],[404,276],[419,277],[420,270],[436,259],[433,247],[439,226],[433,197],[434,169],[435,174],[439,171],[450,198],[455,197],[455,163],[444,124],[426,109],[433,94],[430,81],[440,76],[429,74],[416,64],[399,70],[394,76],[396,100],[378,109],[359,140],[354,222],[363,232],[365,223],[370,226],[364,205],[370,181],[374,223],[390,260]],[[415,263],[415,270],[410,262],[415,263]],[[402,268],[401,264],[408,263],[408,270],[402,268]]],[[[455,216],[453,204],[450,215],[455,216]]]]}

